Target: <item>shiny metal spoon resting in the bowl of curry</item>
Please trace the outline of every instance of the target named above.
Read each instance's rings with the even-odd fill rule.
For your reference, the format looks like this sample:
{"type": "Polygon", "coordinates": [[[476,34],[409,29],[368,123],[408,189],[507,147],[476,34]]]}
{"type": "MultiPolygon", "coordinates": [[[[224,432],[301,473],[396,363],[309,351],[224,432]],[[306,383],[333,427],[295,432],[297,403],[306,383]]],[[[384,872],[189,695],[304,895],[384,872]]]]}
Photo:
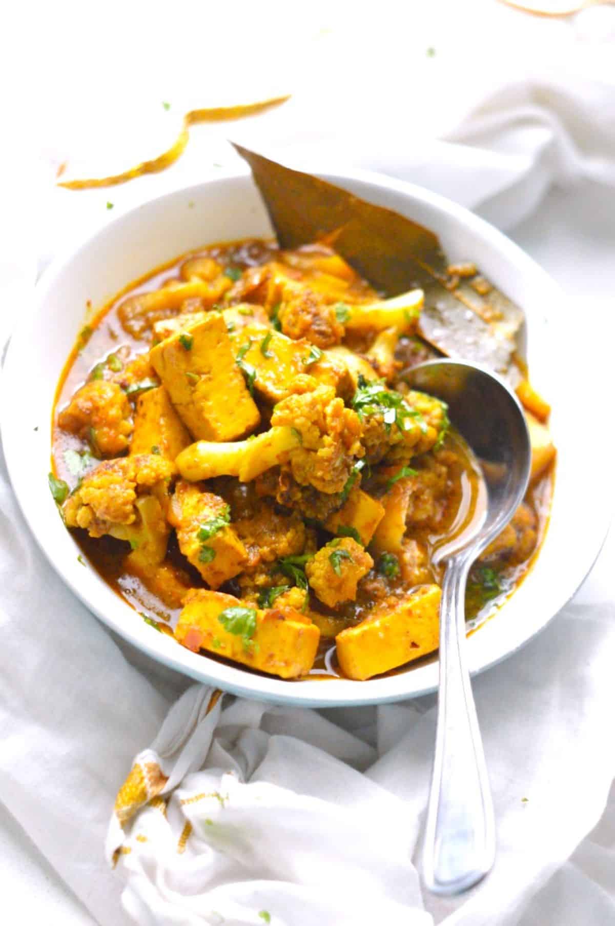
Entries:
{"type": "Polygon", "coordinates": [[[516,396],[486,369],[429,360],[402,375],[412,388],[449,404],[450,420],[474,450],[486,490],[482,513],[441,557],[436,752],[423,877],[433,893],[452,895],[484,878],[496,854],[493,802],[465,654],[465,585],[474,559],[523,501],[531,449],[516,396]]]}

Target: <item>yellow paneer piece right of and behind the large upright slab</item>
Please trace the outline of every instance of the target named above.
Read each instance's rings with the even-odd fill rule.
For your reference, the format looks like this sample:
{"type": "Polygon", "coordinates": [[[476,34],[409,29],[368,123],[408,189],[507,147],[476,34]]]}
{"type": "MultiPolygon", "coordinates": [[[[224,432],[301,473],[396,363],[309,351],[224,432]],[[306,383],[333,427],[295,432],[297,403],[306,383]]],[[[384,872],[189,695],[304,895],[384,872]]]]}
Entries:
{"type": "MultiPolygon", "coordinates": [[[[237,309],[235,309],[237,311],[237,309]]],[[[280,402],[291,392],[297,376],[309,373],[318,382],[333,386],[339,394],[352,393],[351,377],[337,357],[326,357],[304,339],[292,338],[252,323],[237,327],[230,340],[236,352],[256,370],[254,389],[270,402],[280,402]]]]}

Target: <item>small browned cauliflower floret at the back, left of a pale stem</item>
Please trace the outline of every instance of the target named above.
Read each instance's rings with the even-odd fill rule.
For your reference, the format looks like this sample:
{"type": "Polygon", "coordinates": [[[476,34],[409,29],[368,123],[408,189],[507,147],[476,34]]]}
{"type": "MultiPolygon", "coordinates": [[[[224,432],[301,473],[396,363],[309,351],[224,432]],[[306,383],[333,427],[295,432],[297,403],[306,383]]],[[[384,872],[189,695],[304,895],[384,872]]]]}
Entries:
{"type": "Polygon", "coordinates": [[[282,332],[293,341],[305,338],[316,347],[333,347],[344,336],[344,326],[334,306],[306,286],[288,282],[284,286],[284,303],[278,318],[282,332]]]}

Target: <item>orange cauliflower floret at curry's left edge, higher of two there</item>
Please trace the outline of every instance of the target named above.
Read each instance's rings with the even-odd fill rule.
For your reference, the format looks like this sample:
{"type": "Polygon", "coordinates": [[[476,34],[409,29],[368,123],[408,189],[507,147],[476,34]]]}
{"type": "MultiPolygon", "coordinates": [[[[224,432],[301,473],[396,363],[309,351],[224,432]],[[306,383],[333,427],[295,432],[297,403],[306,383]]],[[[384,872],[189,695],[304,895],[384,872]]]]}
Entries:
{"type": "Polygon", "coordinates": [[[92,380],[77,390],[57,423],[63,431],[88,440],[94,453],[118,457],[129,446],[132,412],[117,383],[92,380]]]}

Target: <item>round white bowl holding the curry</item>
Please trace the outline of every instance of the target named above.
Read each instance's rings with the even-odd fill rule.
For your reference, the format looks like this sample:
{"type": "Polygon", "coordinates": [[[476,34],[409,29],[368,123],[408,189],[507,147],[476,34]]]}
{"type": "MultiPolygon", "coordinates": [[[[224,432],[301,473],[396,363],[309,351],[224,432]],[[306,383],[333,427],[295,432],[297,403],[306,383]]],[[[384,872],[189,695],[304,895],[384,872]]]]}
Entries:
{"type": "MultiPolygon", "coordinates": [[[[441,196],[364,171],[322,171],[321,176],[423,223],[437,233],[451,260],[473,260],[525,311],[532,380],[553,404],[551,426],[560,458],[551,522],[535,568],[498,615],[468,640],[471,669],[480,671],[518,649],[558,612],[591,568],[608,527],[602,487],[588,480],[584,469],[580,411],[563,359],[572,356],[560,320],[565,318],[564,296],[503,234],[441,196]],[[582,483],[583,522],[576,497],[582,483]],[[580,529],[581,538],[576,535],[580,529]]],[[[31,531],[62,579],[106,624],[167,666],[236,694],[304,706],[371,704],[424,694],[437,686],[436,661],[368,682],[283,682],[191,653],[145,624],[94,569],[83,569],[79,548],[49,492],[55,388],[84,323],[86,303],[100,307],[129,282],[204,244],[269,233],[251,177],[237,173],[120,214],[57,260],[37,287],[34,305],[20,319],[6,356],[2,428],[13,487],[31,531]]],[[[585,421],[591,413],[584,409],[585,421]]]]}

